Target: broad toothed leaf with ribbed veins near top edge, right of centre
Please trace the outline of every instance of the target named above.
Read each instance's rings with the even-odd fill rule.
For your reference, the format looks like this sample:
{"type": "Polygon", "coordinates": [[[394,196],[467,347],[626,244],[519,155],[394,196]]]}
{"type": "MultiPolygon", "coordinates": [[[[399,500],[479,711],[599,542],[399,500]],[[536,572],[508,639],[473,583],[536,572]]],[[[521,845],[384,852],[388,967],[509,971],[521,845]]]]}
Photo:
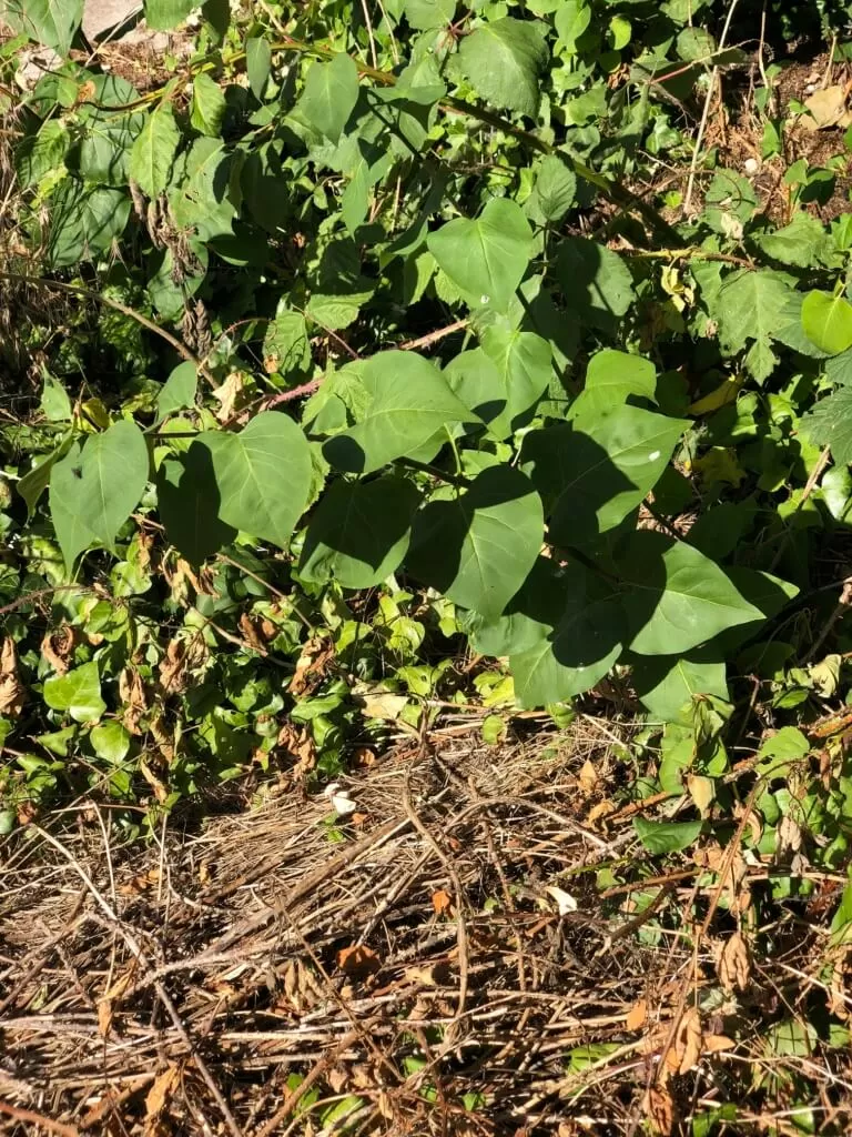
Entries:
{"type": "Polygon", "coordinates": [[[459,63],[483,99],[535,117],[538,76],[548,64],[548,47],[538,24],[511,16],[483,24],[461,41],[459,63]]]}

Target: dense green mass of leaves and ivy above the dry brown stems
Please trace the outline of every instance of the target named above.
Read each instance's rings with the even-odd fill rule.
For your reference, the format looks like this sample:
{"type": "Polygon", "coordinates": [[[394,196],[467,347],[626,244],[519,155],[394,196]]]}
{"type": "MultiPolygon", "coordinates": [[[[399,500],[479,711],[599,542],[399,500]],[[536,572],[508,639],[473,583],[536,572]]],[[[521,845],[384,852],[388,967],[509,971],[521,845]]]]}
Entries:
{"type": "Polygon", "coordinates": [[[836,164],[783,171],[770,219],[694,151],[711,68],[757,66],[727,9],[211,0],[142,93],[75,50],[82,0],[6,13],[3,289],[40,385],[2,429],[7,824],[64,779],[333,772],[471,696],[496,739],[513,702],[635,695],[663,781],[708,782],[732,674],[820,689],[852,222],[809,211],[836,164]],[[27,39],[60,57],[34,84],[27,39]]]}

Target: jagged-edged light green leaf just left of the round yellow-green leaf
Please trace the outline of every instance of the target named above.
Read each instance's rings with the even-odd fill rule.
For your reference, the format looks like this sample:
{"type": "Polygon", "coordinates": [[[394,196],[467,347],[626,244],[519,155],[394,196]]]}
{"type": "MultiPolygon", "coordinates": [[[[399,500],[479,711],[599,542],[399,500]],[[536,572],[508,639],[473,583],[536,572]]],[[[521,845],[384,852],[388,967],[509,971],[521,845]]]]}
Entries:
{"type": "Polygon", "coordinates": [[[778,273],[741,268],[721,285],[715,310],[722,346],[728,355],[742,351],[749,371],[759,381],[769,377],[777,363],[770,343],[790,297],[790,285],[778,273]]]}

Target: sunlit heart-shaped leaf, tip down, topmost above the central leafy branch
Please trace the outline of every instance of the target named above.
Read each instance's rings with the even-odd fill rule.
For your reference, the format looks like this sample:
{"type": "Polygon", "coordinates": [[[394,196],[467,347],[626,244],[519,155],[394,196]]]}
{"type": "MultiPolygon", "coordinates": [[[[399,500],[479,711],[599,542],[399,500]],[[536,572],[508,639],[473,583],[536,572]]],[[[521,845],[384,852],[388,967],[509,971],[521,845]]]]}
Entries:
{"type": "Polygon", "coordinates": [[[457,217],[429,233],[429,252],[469,307],[504,312],[533,256],[529,222],[515,201],[492,198],[476,221],[457,217]]]}

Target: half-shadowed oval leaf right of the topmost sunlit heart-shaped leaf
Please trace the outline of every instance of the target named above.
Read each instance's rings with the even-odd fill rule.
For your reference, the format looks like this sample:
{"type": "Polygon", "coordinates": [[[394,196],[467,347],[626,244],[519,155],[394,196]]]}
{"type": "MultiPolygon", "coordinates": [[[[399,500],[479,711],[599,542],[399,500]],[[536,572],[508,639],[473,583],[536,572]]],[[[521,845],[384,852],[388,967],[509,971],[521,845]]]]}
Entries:
{"type": "Polygon", "coordinates": [[[618,254],[569,236],[559,246],[556,271],[568,307],[584,323],[613,334],[634,298],[630,271],[618,254]]]}

